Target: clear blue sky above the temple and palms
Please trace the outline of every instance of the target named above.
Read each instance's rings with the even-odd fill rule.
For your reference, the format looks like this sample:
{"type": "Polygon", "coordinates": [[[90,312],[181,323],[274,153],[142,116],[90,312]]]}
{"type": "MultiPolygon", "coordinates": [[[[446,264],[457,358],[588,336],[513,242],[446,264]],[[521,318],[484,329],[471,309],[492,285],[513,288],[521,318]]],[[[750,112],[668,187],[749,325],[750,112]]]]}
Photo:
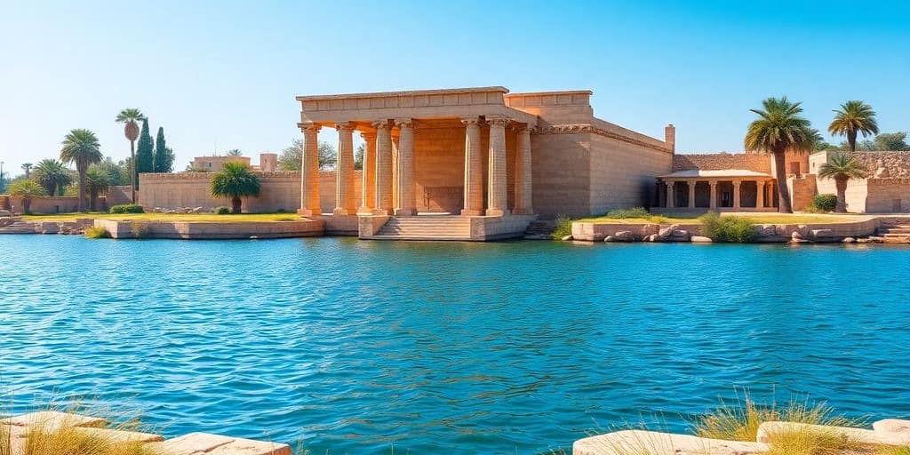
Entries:
{"type": "Polygon", "coordinates": [[[15,171],[75,127],[128,156],[127,106],[165,127],[182,170],[216,140],[286,147],[297,95],[456,86],[589,88],[605,120],[657,137],[675,124],[681,152],[741,150],[766,96],[803,101],[822,130],[847,99],[910,129],[906,1],[23,1],[2,8],[0,63],[15,171]]]}

